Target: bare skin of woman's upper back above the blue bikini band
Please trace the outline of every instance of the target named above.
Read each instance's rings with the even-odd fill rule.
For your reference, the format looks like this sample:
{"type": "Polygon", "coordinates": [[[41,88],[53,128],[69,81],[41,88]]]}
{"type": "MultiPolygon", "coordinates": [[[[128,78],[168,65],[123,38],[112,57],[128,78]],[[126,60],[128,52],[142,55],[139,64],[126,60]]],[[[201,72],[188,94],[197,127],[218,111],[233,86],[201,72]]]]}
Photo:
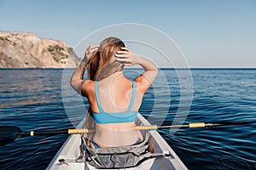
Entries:
{"type": "MultiPolygon", "coordinates": [[[[102,110],[108,113],[127,111],[133,95],[135,99],[131,111],[137,111],[143,99],[143,96],[137,91],[137,88],[135,94],[133,93],[132,81],[126,78],[122,71],[98,82],[98,89],[92,88],[92,90],[92,93],[99,94],[102,110]]],[[[92,96],[91,100],[93,101],[90,105],[90,109],[93,112],[99,113],[96,95],[92,96]]]]}

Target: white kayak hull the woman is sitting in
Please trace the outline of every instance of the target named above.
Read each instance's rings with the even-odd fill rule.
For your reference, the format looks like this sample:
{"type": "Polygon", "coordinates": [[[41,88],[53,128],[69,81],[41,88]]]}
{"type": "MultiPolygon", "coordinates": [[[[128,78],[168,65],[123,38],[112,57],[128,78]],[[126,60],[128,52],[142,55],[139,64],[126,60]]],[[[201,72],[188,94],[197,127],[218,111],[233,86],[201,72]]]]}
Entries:
{"type": "MultiPolygon", "coordinates": [[[[81,128],[84,121],[80,122],[77,128],[81,128]]],[[[136,124],[138,126],[147,126],[150,123],[141,115],[138,114],[136,124]]],[[[129,170],[135,169],[161,169],[161,170],[172,170],[172,169],[188,169],[183,164],[183,161],[177,156],[177,154],[172,150],[171,146],[166,143],[166,140],[160,136],[155,130],[149,131],[149,143],[153,145],[154,152],[163,153],[165,156],[155,157],[147,159],[140,163],[137,167],[125,168],[129,170]]],[[[90,164],[84,161],[77,161],[80,156],[79,146],[81,144],[81,137],[79,134],[72,134],[68,137],[66,142],[58,150],[52,161],[50,161],[49,166],[46,169],[49,170],[79,170],[79,169],[97,169],[92,167],[90,164]],[[60,160],[62,160],[60,162],[60,160]],[[65,161],[63,161],[65,160],[65,161]],[[85,165],[86,164],[86,165],[85,165]]]]}

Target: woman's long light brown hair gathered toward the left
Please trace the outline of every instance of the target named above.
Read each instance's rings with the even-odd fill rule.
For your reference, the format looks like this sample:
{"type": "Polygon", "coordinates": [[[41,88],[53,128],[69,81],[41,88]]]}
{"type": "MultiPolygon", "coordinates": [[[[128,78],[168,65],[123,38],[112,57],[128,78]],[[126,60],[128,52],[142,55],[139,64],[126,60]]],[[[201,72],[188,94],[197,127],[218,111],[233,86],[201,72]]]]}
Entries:
{"type": "Polygon", "coordinates": [[[124,65],[116,61],[114,57],[121,47],[125,47],[125,43],[117,37],[108,37],[100,43],[99,49],[92,54],[87,63],[90,80],[99,81],[124,69],[124,65]]]}

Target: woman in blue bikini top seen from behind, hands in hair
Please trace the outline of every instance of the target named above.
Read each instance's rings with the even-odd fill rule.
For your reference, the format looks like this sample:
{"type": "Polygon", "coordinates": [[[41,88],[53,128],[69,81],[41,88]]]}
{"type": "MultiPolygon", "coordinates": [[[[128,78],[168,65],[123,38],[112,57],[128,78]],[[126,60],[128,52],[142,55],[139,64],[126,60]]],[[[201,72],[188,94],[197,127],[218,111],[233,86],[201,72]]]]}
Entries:
{"type": "Polygon", "coordinates": [[[90,103],[96,133],[92,148],[137,144],[143,140],[134,130],[143,94],[158,69],[153,62],[125,48],[117,37],[108,37],[99,45],[90,45],[84,59],[71,77],[71,86],[90,103]],[[141,65],[144,72],[133,81],[124,76],[124,66],[141,65]],[[90,80],[83,80],[87,69],[90,80]]]}

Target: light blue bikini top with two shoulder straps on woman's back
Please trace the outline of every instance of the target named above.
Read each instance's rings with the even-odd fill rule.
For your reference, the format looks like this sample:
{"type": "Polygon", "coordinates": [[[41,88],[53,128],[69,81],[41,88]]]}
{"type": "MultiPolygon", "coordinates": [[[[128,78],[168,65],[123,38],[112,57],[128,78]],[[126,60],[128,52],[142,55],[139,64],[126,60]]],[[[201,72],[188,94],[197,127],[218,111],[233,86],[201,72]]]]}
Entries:
{"type": "Polygon", "coordinates": [[[131,111],[131,108],[136,96],[136,82],[132,81],[131,102],[127,111],[123,111],[123,112],[108,113],[106,111],[103,111],[101,100],[99,97],[98,87],[99,87],[99,82],[96,82],[95,83],[96,102],[97,102],[100,113],[93,112],[93,118],[95,122],[99,124],[135,122],[135,120],[137,119],[138,111],[131,111]]]}

